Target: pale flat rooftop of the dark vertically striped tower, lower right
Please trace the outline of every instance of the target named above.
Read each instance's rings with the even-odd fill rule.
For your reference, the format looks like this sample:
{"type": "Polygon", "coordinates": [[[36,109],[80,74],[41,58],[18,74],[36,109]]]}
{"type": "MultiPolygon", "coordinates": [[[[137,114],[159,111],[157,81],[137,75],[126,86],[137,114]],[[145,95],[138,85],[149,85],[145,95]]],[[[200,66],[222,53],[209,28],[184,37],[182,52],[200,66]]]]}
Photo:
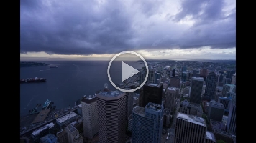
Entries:
{"type": "Polygon", "coordinates": [[[198,125],[206,127],[206,123],[205,123],[204,119],[201,118],[201,117],[191,116],[191,115],[183,114],[183,113],[180,113],[180,112],[178,112],[178,116],[177,117],[179,119],[185,119],[188,122],[191,122],[191,123],[198,124],[198,125]]]}

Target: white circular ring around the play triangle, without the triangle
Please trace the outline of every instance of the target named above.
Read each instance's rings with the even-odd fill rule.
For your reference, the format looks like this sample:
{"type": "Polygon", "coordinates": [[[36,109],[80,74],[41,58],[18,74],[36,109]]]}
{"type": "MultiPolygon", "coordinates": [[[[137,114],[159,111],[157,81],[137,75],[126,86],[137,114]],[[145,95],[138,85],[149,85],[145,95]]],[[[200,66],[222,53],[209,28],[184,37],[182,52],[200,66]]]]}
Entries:
{"type": "Polygon", "coordinates": [[[110,82],[114,87],[116,87],[116,89],[119,89],[119,90],[122,91],[122,92],[134,92],[134,91],[136,91],[137,89],[142,88],[143,85],[147,82],[148,73],[149,73],[149,71],[148,71],[147,62],[145,61],[145,59],[144,59],[142,56],[140,56],[140,54],[137,54],[137,53],[134,52],[134,51],[122,51],[122,52],[120,52],[119,54],[116,54],[115,56],[113,56],[113,58],[109,61],[109,66],[108,66],[108,70],[107,70],[107,74],[108,74],[108,77],[109,77],[109,82],[110,82]],[[135,54],[136,56],[139,56],[140,59],[142,59],[142,61],[144,62],[145,66],[146,66],[146,69],[147,69],[146,77],[145,77],[144,81],[142,82],[142,84],[140,84],[140,86],[137,87],[136,89],[130,89],[130,90],[121,89],[121,88],[117,87],[116,84],[114,84],[114,82],[112,81],[112,79],[111,79],[111,77],[110,77],[109,69],[110,69],[110,66],[111,66],[112,62],[114,61],[114,59],[116,59],[117,56],[120,56],[120,55],[122,55],[122,54],[135,54]]]}

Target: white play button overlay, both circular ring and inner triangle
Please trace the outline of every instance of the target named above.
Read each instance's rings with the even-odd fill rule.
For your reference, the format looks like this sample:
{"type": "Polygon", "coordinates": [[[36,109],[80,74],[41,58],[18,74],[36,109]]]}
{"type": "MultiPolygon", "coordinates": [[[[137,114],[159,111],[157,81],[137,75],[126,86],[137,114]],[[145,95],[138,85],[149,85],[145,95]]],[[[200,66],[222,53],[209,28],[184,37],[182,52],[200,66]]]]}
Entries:
{"type": "MultiPolygon", "coordinates": [[[[124,61],[122,61],[122,82],[124,82],[125,80],[129,80],[130,77],[133,77],[135,74],[139,73],[140,71],[138,71],[137,69],[134,69],[134,67],[130,66],[129,64],[125,63],[124,61]]],[[[123,51],[119,54],[116,54],[112,59],[111,61],[109,61],[109,66],[108,66],[108,70],[107,70],[107,74],[108,74],[108,77],[109,77],[109,82],[116,88],[116,89],[119,89],[120,91],[122,92],[134,92],[136,91],[137,89],[140,89],[141,87],[143,87],[143,85],[147,82],[147,77],[148,77],[148,66],[147,66],[147,62],[145,61],[145,59],[140,55],[140,54],[137,54],[136,52],[134,51],[123,51]],[[112,62],[114,61],[114,59],[116,59],[117,56],[120,56],[122,54],[134,54],[136,56],[139,56],[140,59],[142,59],[142,61],[144,62],[145,66],[146,66],[146,71],[147,71],[147,74],[146,74],[146,77],[144,79],[144,81],[142,82],[142,84],[140,84],[139,87],[135,88],[135,89],[122,89],[120,87],[117,87],[116,84],[114,84],[114,82],[112,81],[111,79],[111,76],[109,74],[109,69],[110,69],[110,66],[112,64],[112,62]]],[[[130,82],[127,81],[127,82],[130,82]]]]}

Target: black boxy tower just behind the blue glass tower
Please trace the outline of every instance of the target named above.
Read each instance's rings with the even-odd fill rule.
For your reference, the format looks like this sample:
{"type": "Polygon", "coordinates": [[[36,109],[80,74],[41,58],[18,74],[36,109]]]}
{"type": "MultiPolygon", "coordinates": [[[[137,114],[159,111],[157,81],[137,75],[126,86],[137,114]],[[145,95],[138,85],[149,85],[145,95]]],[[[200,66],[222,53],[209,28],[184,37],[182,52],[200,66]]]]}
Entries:
{"type": "MultiPolygon", "coordinates": [[[[145,107],[149,102],[155,104],[162,104],[162,92],[163,84],[144,84],[143,94],[140,99],[142,99],[142,106],[145,107]]],[[[141,95],[140,95],[141,96],[141,95]]],[[[141,102],[141,101],[140,101],[141,102]]]]}

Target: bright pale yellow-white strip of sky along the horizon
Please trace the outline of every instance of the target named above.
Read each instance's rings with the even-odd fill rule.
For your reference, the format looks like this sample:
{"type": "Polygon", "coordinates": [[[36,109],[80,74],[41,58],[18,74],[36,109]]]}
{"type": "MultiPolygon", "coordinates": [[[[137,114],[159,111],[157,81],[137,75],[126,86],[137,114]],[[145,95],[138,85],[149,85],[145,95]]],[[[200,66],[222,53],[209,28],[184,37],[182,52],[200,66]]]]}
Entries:
{"type": "MultiPolygon", "coordinates": [[[[211,49],[209,46],[200,49],[150,49],[135,51],[145,59],[236,59],[236,48],[211,49]]],[[[20,54],[20,57],[47,57],[47,58],[105,58],[111,59],[115,54],[91,54],[91,55],[60,55],[47,54],[45,52],[28,52],[20,54]]]]}

